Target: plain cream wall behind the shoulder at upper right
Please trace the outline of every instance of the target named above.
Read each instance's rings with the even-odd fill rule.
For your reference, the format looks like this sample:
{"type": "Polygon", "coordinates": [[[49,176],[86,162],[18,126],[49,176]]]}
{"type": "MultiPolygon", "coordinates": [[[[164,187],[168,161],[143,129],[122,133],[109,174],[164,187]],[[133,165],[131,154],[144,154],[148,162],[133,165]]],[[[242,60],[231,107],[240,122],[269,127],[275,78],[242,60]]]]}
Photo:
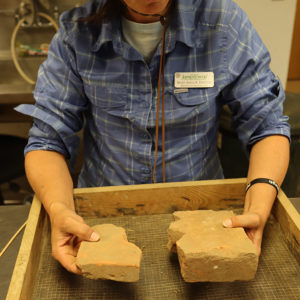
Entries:
{"type": "Polygon", "coordinates": [[[297,0],[235,0],[271,53],[271,68],[286,86],[297,0]]]}

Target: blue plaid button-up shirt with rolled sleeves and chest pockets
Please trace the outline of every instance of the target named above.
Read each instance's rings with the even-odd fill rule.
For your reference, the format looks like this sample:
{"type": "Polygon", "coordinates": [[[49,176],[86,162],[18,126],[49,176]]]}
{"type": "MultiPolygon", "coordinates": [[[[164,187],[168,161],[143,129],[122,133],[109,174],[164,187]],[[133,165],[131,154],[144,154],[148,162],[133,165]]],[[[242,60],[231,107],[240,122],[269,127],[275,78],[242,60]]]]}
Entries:
{"type": "MultiPolygon", "coordinates": [[[[50,150],[74,159],[84,127],[85,161],[78,186],[152,182],[160,45],[150,64],[122,37],[120,21],[98,27],[72,22],[102,0],[61,16],[34,91],[25,153],[50,150]]],[[[177,0],[166,33],[166,179],[222,178],[217,152],[223,105],[245,149],[274,134],[289,137],[284,92],[270,56],[245,13],[231,0],[177,0]],[[213,88],[177,93],[175,72],[213,72],[213,88]]],[[[160,118],[161,119],[161,118],[160,118]]],[[[161,139],[159,138],[159,141],[161,139]]],[[[161,142],[157,181],[162,181],[161,142]]]]}

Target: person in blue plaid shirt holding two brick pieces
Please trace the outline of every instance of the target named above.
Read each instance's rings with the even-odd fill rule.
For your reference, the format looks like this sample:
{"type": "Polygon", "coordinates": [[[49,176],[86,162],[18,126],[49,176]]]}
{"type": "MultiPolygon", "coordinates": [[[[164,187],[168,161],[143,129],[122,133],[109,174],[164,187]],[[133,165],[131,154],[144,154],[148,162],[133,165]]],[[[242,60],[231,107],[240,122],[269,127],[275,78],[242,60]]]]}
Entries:
{"type": "Polygon", "coordinates": [[[79,187],[217,179],[223,105],[250,152],[251,183],[243,215],[224,226],[244,227],[260,253],[289,160],[284,93],[269,62],[231,0],[93,0],[64,13],[36,104],[18,108],[34,117],[25,165],[51,220],[53,256],[80,273],[80,241],[99,238],[74,212],[66,159],[76,132],[84,126],[79,187]]]}

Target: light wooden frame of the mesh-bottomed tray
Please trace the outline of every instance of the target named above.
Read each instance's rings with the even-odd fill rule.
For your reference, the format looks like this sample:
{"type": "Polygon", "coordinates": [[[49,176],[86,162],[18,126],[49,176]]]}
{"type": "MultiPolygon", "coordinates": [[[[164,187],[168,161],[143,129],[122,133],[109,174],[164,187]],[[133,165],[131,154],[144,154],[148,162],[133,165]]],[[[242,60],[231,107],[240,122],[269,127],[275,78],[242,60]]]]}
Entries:
{"type": "MultiPolygon", "coordinates": [[[[84,188],[74,190],[74,201],[78,214],[80,214],[87,220],[96,220],[103,218],[111,220],[112,217],[120,217],[115,219],[121,219],[125,217],[128,217],[129,219],[141,217],[145,220],[147,218],[151,218],[151,216],[157,217],[161,214],[167,215],[176,210],[241,209],[244,202],[245,186],[246,179],[242,178],[165,184],[84,188]],[[145,218],[143,217],[145,215],[149,216],[145,218]]],[[[296,211],[296,209],[291,204],[289,199],[285,196],[282,190],[280,191],[273,207],[271,218],[276,220],[276,222],[280,225],[286,245],[288,246],[287,251],[291,253],[297,265],[295,267],[296,271],[293,272],[296,272],[295,283],[298,281],[299,285],[296,284],[295,289],[292,291],[293,295],[295,295],[289,299],[299,299],[300,274],[299,272],[297,273],[297,270],[300,269],[297,262],[300,264],[300,217],[299,213],[296,211]]],[[[90,221],[88,223],[93,222],[95,221],[90,221]]],[[[280,232],[278,232],[278,234],[279,233],[280,232]]],[[[17,257],[15,269],[12,275],[10,287],[8,290],[8,300],[28,300],[33,298],[37,273],[41,268],[41,261],[43,261],[42,259],[40,259],[41,253],[46,251],[45,249],[43,249],[45,245],[46,248],[49,248],[49,243],[49,221],[40,201],[37,198],[34,198],[22,244],[17,257]]],[[[58,264],[54,265],[54,267],[55,266],[59,268],[58,264]]],[[[278,280],[282,281],[282,278],[278,278],[278,280]]],[[[117,286],[114,284],[112,285],[114,288],[116,288],[117,286]]],[[[222,289],[224,289],[224,287],[230,289],[234,288],[234,286],[236,285],[222,285],[222,289]]],[[[202,286],[202,288],[203,287],[204,286],[202,286]]],[[[205,287],[208,288],[208,286],[205,287]]],[[[221,285],[214,287],[218,288],[221,287],[221,285]]],[[[243,288],[245,287],[247,286],[245,286],[244,283],[243,288]]],[[[55,287],[50,288],[55,290],[55,287]]],[[[124,289],[124,286],[119,284],[118,288],[124,289]]],[[[132,289],[134,289],[134,287],[132,287],[132,289]]],[[[126,293],[124,293],[124,295],[125,294],[126,293]]],[[[111,299],[99,295],[98,299],[100,298],[111,299]]],[[[47,298],[45,297],[43,299],[47,298]]],[[[78,296],[76,297],[76,299],[83,298],[80,298],[78,296]]],[[[96,298],[89,297],[88,299],[96,298]]],[[[133,298],[126,298],[125,296],[123,296],[122,299],[133,298]]],[[[136,296],[134,299],[151,298],[136,296]]],[[[162,297],[161,299],[167,298],[162,297]]],[[[172,296],[168,299],[175,298],[172,296]]],[[[193,299],[200,298],[194,297],[193,299]]],[[[218,297],[216,297],[216,299],[218,299],[218,297]]],[[[222,299],[224,299],[224,297],[222,299]]],[[[255,299],[255,297],[253,297],[253,293],[252,299],[255,299]]],[[[282,299],[284,299],[284,296],[282,297],[282,299]]]]}

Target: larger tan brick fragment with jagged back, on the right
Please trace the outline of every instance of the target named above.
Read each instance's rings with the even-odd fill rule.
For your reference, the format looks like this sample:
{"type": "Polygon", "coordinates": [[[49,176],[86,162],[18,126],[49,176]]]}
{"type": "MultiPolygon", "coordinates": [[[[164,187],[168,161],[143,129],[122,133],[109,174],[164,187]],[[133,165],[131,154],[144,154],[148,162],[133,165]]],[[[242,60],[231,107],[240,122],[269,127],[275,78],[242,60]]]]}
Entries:
{"type": "Polygon", "coordinates": [[[258,266],[256,247],[243,228],[224,228],[232,211],[175,212],[168,248],[177,251],[186,282],[248,281],[258,266]]]}

